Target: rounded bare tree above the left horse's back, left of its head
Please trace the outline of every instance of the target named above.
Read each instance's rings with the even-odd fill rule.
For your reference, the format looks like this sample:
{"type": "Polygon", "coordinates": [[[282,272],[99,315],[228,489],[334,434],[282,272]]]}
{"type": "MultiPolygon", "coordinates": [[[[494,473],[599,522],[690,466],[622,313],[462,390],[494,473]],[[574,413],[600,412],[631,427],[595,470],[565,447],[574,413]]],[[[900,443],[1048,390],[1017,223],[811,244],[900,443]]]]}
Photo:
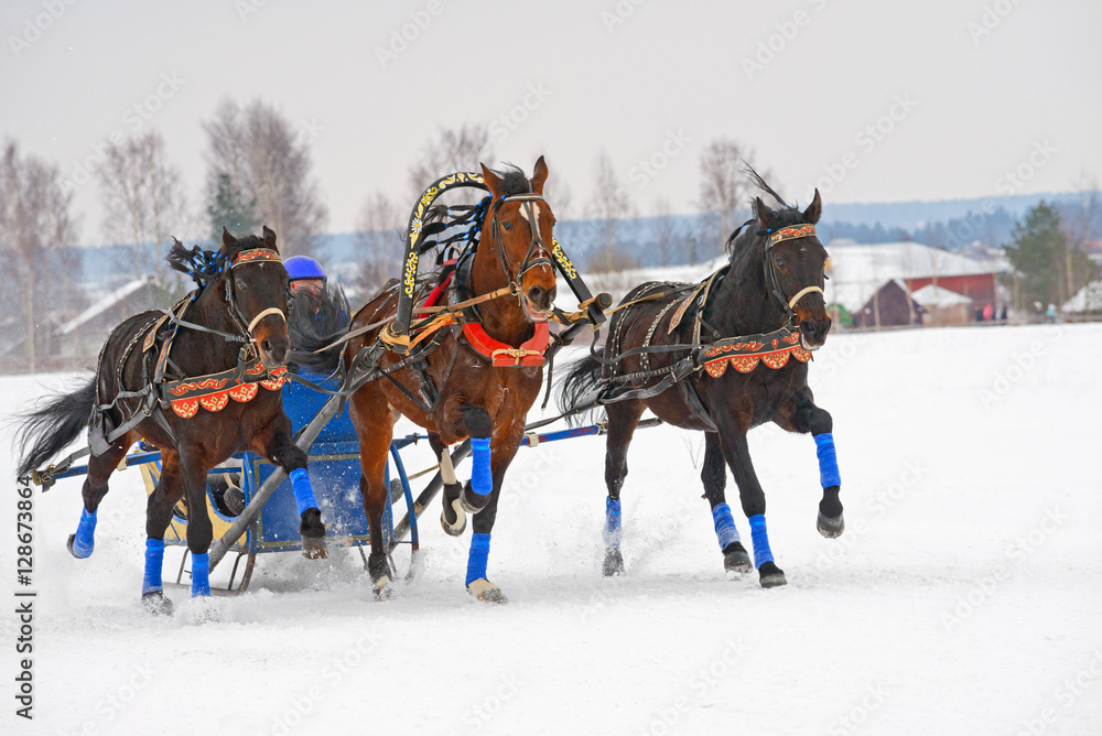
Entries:
{"type": "Polygon", "coordinates": [[[133,275],[147,270],[160,275],[152,248],[186,227],[186,195],[180,169],[168,162],[164,139],[156,131],[111,143],[97,170],[104,194],[104,236],[133,246],[133,275]]]}

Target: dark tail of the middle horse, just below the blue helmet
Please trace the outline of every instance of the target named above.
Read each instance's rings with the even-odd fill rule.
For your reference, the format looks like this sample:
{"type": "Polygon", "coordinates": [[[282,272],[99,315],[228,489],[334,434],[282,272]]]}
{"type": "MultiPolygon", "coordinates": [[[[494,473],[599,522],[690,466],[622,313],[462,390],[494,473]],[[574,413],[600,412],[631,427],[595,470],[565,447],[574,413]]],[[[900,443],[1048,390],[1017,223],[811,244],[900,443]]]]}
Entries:
{"type": "Polygon", "coordinates": [[[311,372],[332,374],[341,364],[341,346],[333,343],[348,332],[350,322],[348,299],[341,286],[295,294],[287,323],[291,339],[288,362],[311,372]]]}

